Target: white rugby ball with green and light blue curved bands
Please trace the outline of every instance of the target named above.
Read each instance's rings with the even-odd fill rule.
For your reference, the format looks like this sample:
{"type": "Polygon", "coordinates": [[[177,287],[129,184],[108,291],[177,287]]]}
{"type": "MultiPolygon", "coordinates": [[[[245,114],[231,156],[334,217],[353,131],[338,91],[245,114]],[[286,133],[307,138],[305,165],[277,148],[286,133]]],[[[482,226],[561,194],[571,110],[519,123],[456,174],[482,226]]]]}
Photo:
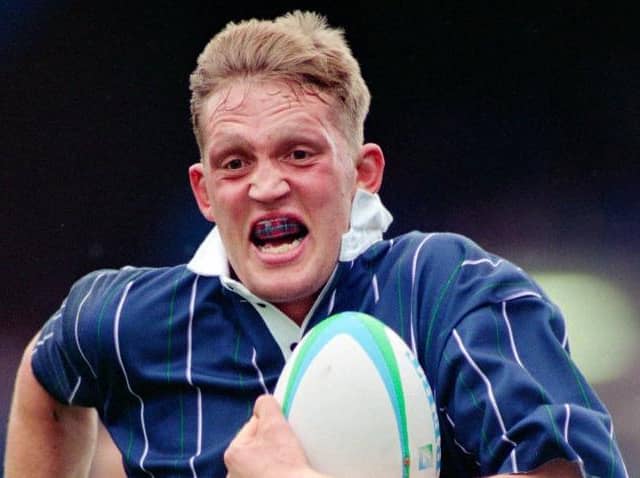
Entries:
{"type": "Polygon", "coordinates": [[[311,466],[335,478],[437,478],[440,430],[431,388],[404,341],[344,312],[315,326],[274,392],[311,466]]]}

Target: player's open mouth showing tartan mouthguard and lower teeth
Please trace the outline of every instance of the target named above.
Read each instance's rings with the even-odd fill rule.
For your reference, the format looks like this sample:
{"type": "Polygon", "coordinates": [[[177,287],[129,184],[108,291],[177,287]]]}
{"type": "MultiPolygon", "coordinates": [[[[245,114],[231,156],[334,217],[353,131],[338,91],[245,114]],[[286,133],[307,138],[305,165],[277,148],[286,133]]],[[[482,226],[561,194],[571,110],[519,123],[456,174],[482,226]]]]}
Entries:
{"type": "Polygon", "coordinates": [[[308,233],[307,227],[292,217],[273,217],[254,224],[251,242],[262,252],[282,254],[295,249],[308,233]]]}

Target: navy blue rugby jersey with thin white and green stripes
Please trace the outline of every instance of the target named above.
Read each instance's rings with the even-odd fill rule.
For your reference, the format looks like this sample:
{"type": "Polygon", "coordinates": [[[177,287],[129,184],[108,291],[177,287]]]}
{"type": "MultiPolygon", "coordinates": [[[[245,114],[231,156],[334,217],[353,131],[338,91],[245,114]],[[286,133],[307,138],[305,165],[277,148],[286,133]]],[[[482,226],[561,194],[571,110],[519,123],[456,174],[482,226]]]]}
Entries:
{"type": "Polygon", "coordinates": [[[554,458],[626,476],[559,310],[521,269],[453,234],[410,233],[341,260],[302,327],[224,274],[98,271],[43,327],[33,370],[61,402],[98,410],[129,476],[224,477],[224,450],[291,349],[348,310],[417,355],[439,410],[442,477],[554,458]]]}

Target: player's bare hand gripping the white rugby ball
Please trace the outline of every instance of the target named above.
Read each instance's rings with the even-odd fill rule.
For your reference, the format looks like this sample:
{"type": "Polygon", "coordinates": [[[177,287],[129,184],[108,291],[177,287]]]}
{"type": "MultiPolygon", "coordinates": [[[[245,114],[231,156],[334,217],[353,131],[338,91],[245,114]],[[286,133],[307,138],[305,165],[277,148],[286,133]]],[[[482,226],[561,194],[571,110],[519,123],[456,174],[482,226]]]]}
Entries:
{"type": "Polygon", "coordinates": [[[256,400],[253,416],[224,454],[227,478],[320,478],[271,395],[256,400]]]}

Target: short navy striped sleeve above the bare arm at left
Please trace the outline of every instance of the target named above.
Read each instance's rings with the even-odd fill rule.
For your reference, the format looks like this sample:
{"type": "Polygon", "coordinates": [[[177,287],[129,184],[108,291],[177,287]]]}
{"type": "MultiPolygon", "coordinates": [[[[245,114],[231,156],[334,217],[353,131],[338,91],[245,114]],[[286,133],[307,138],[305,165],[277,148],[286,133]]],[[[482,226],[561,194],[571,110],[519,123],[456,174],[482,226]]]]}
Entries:
{"type": "Polygon", "coordinates": [[[99,387],[97,366],[88,357],[96,334],[86,324],[95,323],[96,285],[115,271],[97,271],[78,280],[60,308],[44,324],[32,352],[36,379],[61,403],[96,406],[99,387]],[[82,322],[82,325],[81,325],[82,322]]]}

